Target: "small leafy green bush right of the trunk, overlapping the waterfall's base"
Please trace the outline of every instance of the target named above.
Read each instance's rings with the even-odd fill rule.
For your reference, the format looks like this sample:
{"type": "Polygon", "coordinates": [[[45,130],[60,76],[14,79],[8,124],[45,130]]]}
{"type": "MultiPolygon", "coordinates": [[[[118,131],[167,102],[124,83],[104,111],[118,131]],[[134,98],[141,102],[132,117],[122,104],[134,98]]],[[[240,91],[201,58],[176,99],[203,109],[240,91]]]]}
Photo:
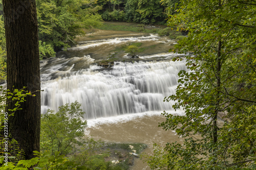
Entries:
{"type": "Polygon", "coordinates": [[[84,114],[78,102],[60,106],[56,113],[48,109],[41,115],[40,150],[67,154],[75,144],[81,145],[87,127],[87,121],[82,120],[84,114]]]}

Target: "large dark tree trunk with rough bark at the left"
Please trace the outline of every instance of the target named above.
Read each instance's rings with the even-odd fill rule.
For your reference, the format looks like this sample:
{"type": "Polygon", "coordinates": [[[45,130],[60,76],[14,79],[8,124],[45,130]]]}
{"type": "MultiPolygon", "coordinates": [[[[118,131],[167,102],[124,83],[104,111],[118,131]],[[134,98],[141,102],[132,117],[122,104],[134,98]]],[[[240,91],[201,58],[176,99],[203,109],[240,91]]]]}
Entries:
{"type": "MultiPolygon", "coordinates": [[[[17,140],[26,159],[40,147],[40,67],[38,28],[35,0],[3,0],[6,48],[7,88],[35,92],[9,116],[9,134],[17,140]]],[[[7,101],[6,110],[13,109],[14,102],[7,101]]],[[[10,114],[11,112],[8,112],[10,114]]]]}

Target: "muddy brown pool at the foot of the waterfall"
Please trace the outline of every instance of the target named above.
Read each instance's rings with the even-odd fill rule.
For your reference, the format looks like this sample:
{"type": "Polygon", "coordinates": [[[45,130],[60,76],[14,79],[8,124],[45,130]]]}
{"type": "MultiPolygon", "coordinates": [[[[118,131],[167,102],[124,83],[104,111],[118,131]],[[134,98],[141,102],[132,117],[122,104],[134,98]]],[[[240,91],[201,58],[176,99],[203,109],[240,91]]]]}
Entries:
{"type": "MultiPolygon", "coordinates": [[[[95,139],[101,139],[107,142],[117,143],[145,143],[147,148],[143,151],[148,155],[153,154],[153,144],[157,143],[162,147],[167,142],[182,143],[182,139],[173,131],[165,131],[158,127],[165,118],[161,114],[147,114],[142,116],[131,116],[122,120],[105,120],[101,123],[95,123],[87,129],[87,136],[95,139]]],[[[90,124],[90,120],[89,120],[90,124]]],[[[135,158],[132,170],[148,170],[150,167],[143,160],[135,158]]]]}

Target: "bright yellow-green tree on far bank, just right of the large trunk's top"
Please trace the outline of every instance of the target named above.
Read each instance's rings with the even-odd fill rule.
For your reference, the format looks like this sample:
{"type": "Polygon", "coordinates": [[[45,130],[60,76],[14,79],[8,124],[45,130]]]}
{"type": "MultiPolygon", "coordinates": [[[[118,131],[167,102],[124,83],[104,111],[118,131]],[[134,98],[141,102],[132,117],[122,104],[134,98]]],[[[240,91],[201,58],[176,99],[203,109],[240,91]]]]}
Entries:
{"type": "Polygon", "coordinates": [[[101,25],[101,17],[93,6],[95,1],[36,1],[39,25],[39,40],[51,45],[54,50],[74,44],[82,28],[90,29],[101,25]]]}

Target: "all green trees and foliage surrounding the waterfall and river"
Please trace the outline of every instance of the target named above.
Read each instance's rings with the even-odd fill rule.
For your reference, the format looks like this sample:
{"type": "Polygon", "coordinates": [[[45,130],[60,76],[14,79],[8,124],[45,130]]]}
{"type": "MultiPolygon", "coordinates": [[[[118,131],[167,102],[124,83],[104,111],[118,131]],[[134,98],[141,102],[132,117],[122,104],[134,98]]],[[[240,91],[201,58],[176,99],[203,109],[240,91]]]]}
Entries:
{"type": "MultiPolygon", "coordinates": [[[[175,101],[173,108],[183,109],[184,115],[164,112],[166,120],[159,123],[163,130],[175,131],[184,143],[166,143],[165,148],[156,144],[153,156],[141,157],[152,169],[256,169],[255,1],[36,0],[36,8],[41,59],[53,57],[57,51],[75,44],[75,38],[84,34],[83,29],[98,28],[104,20],[157,23],[186,31],[187,36],[170,51],[186,54],[173,61],[186,61],[190,71],[179,72],[176,94],[164,99],[175,101]]],[[[6,43],[2,4],[0,14],[4,78],[6,43]]],[[[25,102],[26,95],[32,95],[23,89],[14,92],[15,99],[20,100],[12,111],[25,102]]],[[[2,103],[14,93],[4,94],[0,98],[2,103]]],[[[2,110],[4,107],[1,106],[2,110]]],[[[87,123],[79,118],[83,114],[80,107],[72,103],[60,107],[56,113],[48,110],[41,116],[40,150],[46,152],[35,151],[36,158],[20,160],[24,158],[23,152],[12,140],[11,147],[17,152],[12,152],[14,156],[10,159],[15,160],[5,166],[4,157],[0,157],[1,169],[129,168],[123,162],[114,166],[104,162],[108,153],[101,151],[100,141],[81,140],[87,123]],[[70,122],[75,126],[68,126],[70,122]],[[65,125],[65,130],[60,128],[65,125]],[[67,135],[70,132],[73,135],[67,135]],[[81,152],[65,157],[75,145],[82,146],[81,152]]],[[[4,116],[0,117],[2,125],[4,116]]]]}

